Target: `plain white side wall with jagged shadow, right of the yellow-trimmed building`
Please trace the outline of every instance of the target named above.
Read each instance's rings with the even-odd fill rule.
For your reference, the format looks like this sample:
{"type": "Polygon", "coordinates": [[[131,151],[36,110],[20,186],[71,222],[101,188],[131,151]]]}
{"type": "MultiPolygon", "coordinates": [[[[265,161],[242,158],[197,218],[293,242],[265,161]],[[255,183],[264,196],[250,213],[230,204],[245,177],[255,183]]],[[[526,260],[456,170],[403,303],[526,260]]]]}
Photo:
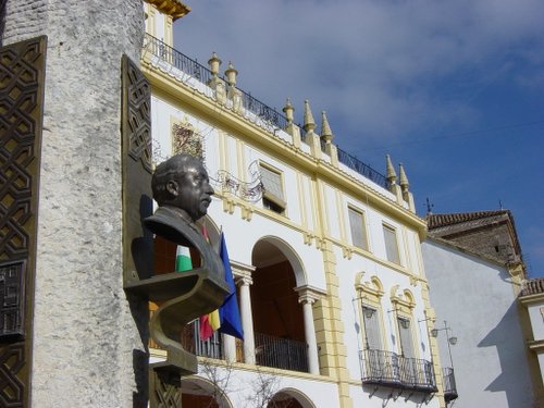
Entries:
{"type": "MultiPolygon", "coordinates": [[[[526,345],[506,269],[430,239],[422,250],[437,325],[447,321],[458,338],[452,347],[459,394],[455,407],[533,407],[526,345]]],[[[438,341],[442,363],[447,366],[444,331],[438,341]]]]}

